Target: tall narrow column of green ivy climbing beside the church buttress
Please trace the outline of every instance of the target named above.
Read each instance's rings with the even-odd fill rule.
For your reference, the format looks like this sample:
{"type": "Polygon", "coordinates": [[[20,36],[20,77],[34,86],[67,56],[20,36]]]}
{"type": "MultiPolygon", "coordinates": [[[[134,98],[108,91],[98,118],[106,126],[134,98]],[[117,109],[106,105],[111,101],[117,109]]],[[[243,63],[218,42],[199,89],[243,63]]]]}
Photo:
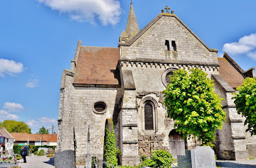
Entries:
{"type": "Polygon", "coordinates": [[[117,166],[117,147],[115,146],[115,134],[114,134],[114,127],[113,127],[113,121],[112,122],[112,131],[108,129],[108,124],[106,124],[105,129],[105,143],[104,143],[104,157],[105,162],[104,164],[105,168],[110,168],[113,166],[117,166]]]}

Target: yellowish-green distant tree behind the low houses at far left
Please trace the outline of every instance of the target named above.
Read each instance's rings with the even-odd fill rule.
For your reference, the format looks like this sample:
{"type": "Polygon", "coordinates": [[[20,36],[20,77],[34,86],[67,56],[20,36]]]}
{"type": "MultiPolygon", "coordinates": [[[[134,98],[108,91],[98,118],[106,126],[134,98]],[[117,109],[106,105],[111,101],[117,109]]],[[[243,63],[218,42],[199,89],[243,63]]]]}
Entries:
{"type": "Polygon", "coordinates": [[[6,127],[8,132],[26,132],[31,134],[31,128],[23,121],[5,120],[0,122],[0,128],[6,127]]]}

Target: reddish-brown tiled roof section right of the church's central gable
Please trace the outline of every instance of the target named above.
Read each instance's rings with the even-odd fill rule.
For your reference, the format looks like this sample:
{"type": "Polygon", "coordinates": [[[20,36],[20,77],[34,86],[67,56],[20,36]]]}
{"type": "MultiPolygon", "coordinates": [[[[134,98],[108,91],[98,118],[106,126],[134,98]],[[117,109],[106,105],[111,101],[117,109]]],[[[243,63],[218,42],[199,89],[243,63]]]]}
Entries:
{"type": "Polygon", "coordinates": [[[220,75],[232,86],[237,88],[243,83],[242,74],[225,57],[218,57],[220,64],[220,75]]]}

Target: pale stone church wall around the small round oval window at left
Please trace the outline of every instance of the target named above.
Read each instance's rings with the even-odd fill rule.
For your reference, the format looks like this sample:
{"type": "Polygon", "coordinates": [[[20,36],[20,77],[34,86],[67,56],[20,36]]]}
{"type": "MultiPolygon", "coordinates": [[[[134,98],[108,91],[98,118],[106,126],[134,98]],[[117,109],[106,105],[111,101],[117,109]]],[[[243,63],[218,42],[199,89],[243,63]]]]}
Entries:
{"type": "Polygon", "coordinates": [[[120,88],[73,87],[73,76],[66,74],[61,82],[59,140],[58,151],[74,150],[76,140],[76,164],[85,166],[85,156],[103,159],[105,121],[112,118],[114,132],[119,146],[119,104],[122,95],[120,88]],[[93,110],[95,102],[104,102],[107,106],[104,114],[93,110]],[[87,134],[90,127],[90,151],[87,151],[87,134]]]}

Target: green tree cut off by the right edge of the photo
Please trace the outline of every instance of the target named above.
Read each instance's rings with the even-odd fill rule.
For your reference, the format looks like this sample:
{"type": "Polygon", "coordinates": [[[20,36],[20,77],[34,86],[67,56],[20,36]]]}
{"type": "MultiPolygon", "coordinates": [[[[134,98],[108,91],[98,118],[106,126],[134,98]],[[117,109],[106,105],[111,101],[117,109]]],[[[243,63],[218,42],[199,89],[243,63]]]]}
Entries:
{"type": "Polygon", "coordinates": [[[238,93],[234,93],[235,106],[238,114],[246,117],[247,132],[256,135],[256,78],[246,78],[242,86],[237,87],[238,93]]]}

